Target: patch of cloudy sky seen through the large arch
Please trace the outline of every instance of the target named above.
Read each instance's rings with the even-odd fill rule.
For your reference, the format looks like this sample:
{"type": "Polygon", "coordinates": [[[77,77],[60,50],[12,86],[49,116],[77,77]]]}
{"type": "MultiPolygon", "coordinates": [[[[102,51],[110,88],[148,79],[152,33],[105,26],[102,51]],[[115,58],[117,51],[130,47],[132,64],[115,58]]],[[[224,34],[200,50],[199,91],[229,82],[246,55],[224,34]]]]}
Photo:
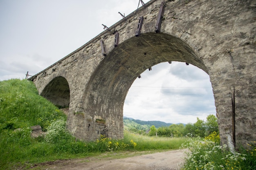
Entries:
{"type": "Polygon", "coordinates": [[[182,62],[159,63],[136,78],[124,102],[124,117],[195,123],[216,114],[209,75],[182,62]]]}

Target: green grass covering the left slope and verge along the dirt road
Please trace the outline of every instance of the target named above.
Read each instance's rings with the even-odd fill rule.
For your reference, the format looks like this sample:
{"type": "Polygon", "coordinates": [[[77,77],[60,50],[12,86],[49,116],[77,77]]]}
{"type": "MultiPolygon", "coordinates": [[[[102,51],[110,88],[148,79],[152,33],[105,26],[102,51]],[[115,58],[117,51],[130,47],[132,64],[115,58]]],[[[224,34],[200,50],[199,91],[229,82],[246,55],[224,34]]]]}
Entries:
{"type": "Polygon", "coordinates": [[[32,82],[19,79],[1,81],[0,169],[29,169],[46,161],[112,153],[108,151],[129,155],[138,150],[143,153],[145,150],[170,150],[179,148],[188,139],[147,137],[125,131],[124,139],[101,136],[97,141],[83,142],[66,131],[66,119],[62,111],[38,95],[32,82]],[[32,138],[30,127],[38,124],[47,135],[32,138]],[[18,128],[20,131],[15,131],[18,128]]]}

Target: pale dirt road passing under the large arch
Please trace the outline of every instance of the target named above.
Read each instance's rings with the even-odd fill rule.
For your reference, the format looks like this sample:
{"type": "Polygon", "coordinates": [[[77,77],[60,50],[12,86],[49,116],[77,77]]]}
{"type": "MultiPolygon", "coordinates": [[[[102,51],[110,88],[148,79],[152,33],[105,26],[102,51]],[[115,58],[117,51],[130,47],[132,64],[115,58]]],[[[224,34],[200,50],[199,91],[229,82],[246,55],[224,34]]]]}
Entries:
{"type": "MultiPolygon", "coordinates": [[[[42,163],[36,169],[61,170],[179,170],[184,150],[170,150],[121,159],[84,158],[42,163]]],[[[33,168],[32,168],[33,169],[33,168]]]]}

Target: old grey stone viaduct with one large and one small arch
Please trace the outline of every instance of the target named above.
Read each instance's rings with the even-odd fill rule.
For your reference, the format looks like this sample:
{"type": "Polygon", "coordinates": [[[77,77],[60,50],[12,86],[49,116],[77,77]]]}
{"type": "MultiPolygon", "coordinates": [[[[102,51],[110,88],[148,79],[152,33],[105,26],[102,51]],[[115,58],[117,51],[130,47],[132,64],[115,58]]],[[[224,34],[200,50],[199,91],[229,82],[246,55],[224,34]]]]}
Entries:
{"type": "Polygon", "coordinates": [[[151,0],[29,80],[69,107],[77,138],[122,138],[133,81],[158,63],[193,64],[209,74],[221,143],[231,148],[256,140],[255,35],[256,0],[151,0]]]}

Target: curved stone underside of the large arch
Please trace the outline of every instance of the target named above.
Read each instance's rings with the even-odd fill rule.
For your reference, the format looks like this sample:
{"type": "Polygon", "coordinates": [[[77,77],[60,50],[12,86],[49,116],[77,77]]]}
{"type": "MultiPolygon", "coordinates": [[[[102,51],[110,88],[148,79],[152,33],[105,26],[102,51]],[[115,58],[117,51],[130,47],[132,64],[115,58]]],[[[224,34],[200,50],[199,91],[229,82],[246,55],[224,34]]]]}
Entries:
{"type": "Polygon", "coordinates": [[[83,103],[85,120],[104,118],[108,135],[122,138],[124,101],[132,83],[146,69],[171,61],[192,64],[207,73],[200,57],[179,38],[145,33],[124,41],[101,61],[90,78],[83,103]]]}

